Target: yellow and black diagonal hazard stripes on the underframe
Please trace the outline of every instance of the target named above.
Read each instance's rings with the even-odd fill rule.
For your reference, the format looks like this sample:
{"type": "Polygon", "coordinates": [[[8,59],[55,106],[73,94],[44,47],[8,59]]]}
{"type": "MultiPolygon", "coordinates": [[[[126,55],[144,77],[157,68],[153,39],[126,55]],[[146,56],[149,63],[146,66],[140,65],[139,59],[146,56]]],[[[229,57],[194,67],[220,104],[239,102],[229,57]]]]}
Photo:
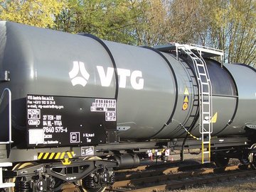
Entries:
{"type": "Polygon", "coordinates": [[[75,157],[74,152],[38,152],[38,159],[72,159],[75,157]]]}

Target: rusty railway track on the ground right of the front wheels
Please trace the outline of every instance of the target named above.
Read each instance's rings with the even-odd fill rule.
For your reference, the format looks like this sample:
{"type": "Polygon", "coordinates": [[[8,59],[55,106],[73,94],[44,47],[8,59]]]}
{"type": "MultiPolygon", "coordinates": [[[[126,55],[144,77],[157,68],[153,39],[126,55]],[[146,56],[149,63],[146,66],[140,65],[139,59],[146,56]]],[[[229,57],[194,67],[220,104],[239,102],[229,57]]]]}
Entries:
{"type": "MultiPolygon", "coordinates": [[[[199,167],[199,166],[198,166],[199,167]]],[[[243,170],[238,165],[228,166],[225,169],[215,168],[200,168],[195,166],[187,166],[190,171],[179,171],[181,167],[173,167],[162,171],[156,171],[146,176],[142,173],[127,176],[127,180],[120,180],[114,183],[112,188],[107,188],[107,191],[165,191],[187,186],[195,186],[202,183],[211,183],[213,181],[224,181],[241,176],[255,176],[256,170],[243,170]],[[175,173],[176,172],[176,173],[175,173]],[[139,178],[140,177],[140,178],[139,178]]],[[[186,169],[186,166],[183,166],[186,169]]]]}

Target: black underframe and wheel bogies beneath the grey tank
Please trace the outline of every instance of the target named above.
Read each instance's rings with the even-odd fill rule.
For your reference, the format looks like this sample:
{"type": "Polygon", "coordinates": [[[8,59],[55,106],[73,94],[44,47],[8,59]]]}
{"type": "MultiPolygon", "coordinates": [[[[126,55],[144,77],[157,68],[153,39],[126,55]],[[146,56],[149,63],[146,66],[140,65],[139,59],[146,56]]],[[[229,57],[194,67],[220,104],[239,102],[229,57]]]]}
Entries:
{"type": "MultiPolygon", "coordinates": [[[[211,151],[214,157],[222,157],[221,165],[225,159],[247,159],[250,154],[250,140],[247,137],[213,138],[211,151]],[[220,155],[221,154],[221,155],[220,155]],[[223,155],[225,154],[225,155],[223,155]],[[245,158],[243,158],[245,157],[245,158]]],[[[114,182],[114,169],[127,169],[139,166],[140,157],[146,157],[152,149],[181,150],[183,140],[161,140],[149,142],[117,142],[92,147],[93,157],[85,156],[85,147],[58,147],[38,149],[11,149],[1,145],[0,162],[32,162],[33,164],[3,171],[6,181],[16,178],[16,186],[30,187],[32,191],[53,191],[63,183],[74,183],[82,188],[101,188],[110,186],[114,182]],[[9,152],[8,152],[9,151],[9,152]],[[73,152],[73,158],[63,155],[63,159],[38,159],[38,154],[53,154],[73,152]],[[101,157],[102,159],[98,158],[101,157]]],[[[189,139],[183,149],[201,149],[200,140],[189,139]]],[[[255,150],[254,148],[251,150],[255,150]]],[[[47,155],[46,155],[47,156],[47,155]]],[[[162,155],[163,156],[163,155],[162,155]]],[[[49,157],[49,156],[48,156],[49,157]]],[[[246,160],[244,161],[246,164],[246,160]]],[[[89,190],[90,191],[90,190],[89,190]]]]}

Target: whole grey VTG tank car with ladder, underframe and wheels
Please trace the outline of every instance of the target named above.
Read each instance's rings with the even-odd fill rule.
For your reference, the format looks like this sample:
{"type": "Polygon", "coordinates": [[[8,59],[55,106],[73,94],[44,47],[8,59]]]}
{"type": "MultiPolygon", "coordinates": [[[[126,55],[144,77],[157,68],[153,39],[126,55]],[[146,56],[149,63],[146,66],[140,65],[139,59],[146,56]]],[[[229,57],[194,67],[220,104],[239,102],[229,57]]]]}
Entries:
{"type": "Polygon", "coordinates": [[[255,164],[256,73],[197,45],[137,47],[0,22],[0,188],[103,191],[142,157],[255,164]],[[250,157],[250,159],[249,159],[250,157]]]}

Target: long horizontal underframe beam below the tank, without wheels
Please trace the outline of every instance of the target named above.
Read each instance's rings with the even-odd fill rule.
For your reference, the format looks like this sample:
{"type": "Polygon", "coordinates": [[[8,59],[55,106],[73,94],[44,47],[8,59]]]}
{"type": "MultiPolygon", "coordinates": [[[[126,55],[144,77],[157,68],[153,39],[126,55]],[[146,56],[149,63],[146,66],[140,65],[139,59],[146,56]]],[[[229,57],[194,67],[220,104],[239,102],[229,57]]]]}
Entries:
{"type": "MultiPolygon", "coordinates": [[[[232,149],[233,147],[250,147],[250,140],[247,137],[214,137],[211,140],[212,149],[216,147],[225,147],[232,149]]],[[[93,149],[91,156],[102,157],[112,154],[130,154],[143,153],[149,149],[171,149],[181,150],[183,139],[174,140],[151,140],[147,142],[113,142],[97,146],[89,146],[93,149]]],[[[90,157],[85,155],[84,150],[87,147],[49,147],[37,149],[9,149],[9,145],[0,145],[0,162],[30,162],[38,160],[38,153],[53,152],[74,152],[75,157],[90,157]]],[[[201,149],[201,140],[188,139],[184,149],[201,149]]],[[[63,158],[64,159],[64,158],[63,158]]]]}

